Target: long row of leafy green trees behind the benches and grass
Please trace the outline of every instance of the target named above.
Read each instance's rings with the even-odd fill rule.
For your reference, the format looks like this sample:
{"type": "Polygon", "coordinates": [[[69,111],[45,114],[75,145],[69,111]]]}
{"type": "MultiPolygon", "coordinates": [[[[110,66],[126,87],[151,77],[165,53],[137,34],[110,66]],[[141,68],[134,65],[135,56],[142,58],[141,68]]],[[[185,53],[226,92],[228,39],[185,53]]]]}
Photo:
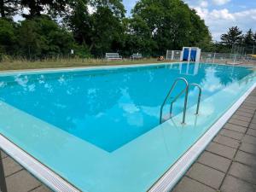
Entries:
{"type": "Polygon", "coordinates": [[[125,16],[121,0],[0,0],[0,52],[26,58],[164,55],[209,46],[204,20],[181,0],[139,0],[125,16]],[[15,15],[25,20],[15,22],[15,15]]]}

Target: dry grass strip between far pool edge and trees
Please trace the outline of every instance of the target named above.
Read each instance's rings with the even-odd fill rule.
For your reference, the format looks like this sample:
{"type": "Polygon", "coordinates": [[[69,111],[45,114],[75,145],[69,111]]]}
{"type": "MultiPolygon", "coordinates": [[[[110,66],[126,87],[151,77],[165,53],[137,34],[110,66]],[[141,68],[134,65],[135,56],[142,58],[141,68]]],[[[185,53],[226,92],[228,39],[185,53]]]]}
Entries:
{"type": "Polygon", "coordinates": [[[158,63],[170,61],[157,61],[155,58],[143,60],[122,60],[122,61],[106,61],[96,59],[60,59],[47,61],[2,61],[0,62],[0,71],[8,70],[25,70],[38,68],[57,68],[57,67],[90,67],[90,66],[114,66],[127,64],[143,64],[143,63],[158,63]]]}

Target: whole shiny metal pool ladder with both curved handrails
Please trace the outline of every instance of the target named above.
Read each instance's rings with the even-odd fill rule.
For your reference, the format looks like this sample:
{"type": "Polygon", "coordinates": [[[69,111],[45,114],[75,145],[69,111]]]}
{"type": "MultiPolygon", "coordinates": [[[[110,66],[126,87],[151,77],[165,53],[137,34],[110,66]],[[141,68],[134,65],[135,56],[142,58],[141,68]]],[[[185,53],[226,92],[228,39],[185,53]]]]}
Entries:
{"type": "Polygon", "coordinates": [[[181,90],[179,92],[179,94],[177,94],[177,96],[175,96],[171,102],[170,105],[170,116],[172,118],[172,107],[173,107],[173,103],[177,101],[177,99],[182,96],[183,94],[185,94],[185,98],[184,98],[184,105],[183,105],[183,121],[182,124],[185,124],[185,120],[186,120],[186,112],[187,112],[187,104],[188,104],[188,96],[189,96],[189,88],[190,86],[195,86],[198,88],[199,92],[198,92],[198,97],[197,97],[197,107],[196,107],[196,112],[195,114],[198,115],[199,114],[199,107],[200,107],[200,102],[201,102],[201,86],[199,84],[189,84],[187,79],[184,78],[178,78],[174,81],[174,83],[172,84],[172,88],[169,90],[166,99],[164,100],[164,102],[161,105],[160,108],[160,124],[162,123],[163,119],[163,108],[166,105],[166,102],[168,100],[168,98],[170,97],[170,95],[172,94],[172,91],[174,90],[176,84],[178,81],[183,81],[183,83],[185,84],[185,88],[183,90],[181,90]]]}

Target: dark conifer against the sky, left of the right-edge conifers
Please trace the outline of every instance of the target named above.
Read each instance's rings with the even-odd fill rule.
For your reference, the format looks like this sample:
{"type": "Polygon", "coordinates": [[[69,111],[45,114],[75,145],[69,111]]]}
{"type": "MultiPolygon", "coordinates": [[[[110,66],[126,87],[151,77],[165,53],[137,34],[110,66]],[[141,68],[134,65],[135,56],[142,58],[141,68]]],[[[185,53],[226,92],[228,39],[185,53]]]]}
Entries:
{"type": "Polygon", "coordinates": [[[221,37],[220,37],[220,39],[222,41],[221,43],[228,46],[229,48],[231,48],[232,45],[241,44],[241,40],[242,40],[241,34],[242,34],[242,32],[238,28],[238,26],[232,26],[229,29],[229,32],[221,35],[221,37]]]}

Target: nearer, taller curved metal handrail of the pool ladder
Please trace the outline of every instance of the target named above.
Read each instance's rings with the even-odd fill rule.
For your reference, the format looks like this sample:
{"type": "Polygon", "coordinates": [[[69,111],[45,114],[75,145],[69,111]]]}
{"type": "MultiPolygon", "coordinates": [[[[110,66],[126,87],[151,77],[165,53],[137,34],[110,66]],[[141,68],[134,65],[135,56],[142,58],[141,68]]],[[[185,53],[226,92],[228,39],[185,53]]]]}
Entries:
{"type": "MultiPolygon", "coordinates": [[[[164,102],[162,103],[161,105],[161,108],[160,108],[160,124],[162,123],[162,115],[163,115],[163,108],[164,106],[166,105],[166,101],[167,99],[169,98],[169,96],[171,95],[172,93],[172,90],[174,89],[174,87],[176,86],[177,82],[182,80],[185,84],[186,84],[186,87],[183,91],[185,91],[185,100],[184,100],[184,108],[183,108],[183,124],[185,123],[185,116],[186,116],[186,110],[187,110],[187,102],[188,102],[188,91],[189,91],[189,83],[187,81],[187,79],[184,79],[184,78],[178,78],[174,81],[174,83],[172,84],[172,88],[169,90],[167,96],[166,96],[166,99],[164,100],[164,102]]],[[[181,96],[183,94],[183,91],[181,91],[181,93],[178,94],[178,96],[181,96]]],[[[177,99],[176,99],[177,100],[177,99]]]]}

